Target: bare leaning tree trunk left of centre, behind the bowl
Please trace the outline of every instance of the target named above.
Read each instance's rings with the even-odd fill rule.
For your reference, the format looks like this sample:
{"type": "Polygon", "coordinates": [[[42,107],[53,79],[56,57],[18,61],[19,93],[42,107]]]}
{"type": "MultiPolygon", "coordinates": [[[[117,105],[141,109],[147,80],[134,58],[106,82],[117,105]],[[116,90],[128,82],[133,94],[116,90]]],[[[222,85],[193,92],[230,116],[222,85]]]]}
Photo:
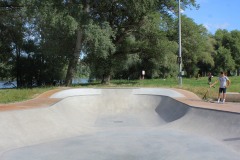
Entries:
{"type": "Polygon", "coordinates": [[[76,46],[75,46],[73,55],[69,59],[68,70],[67,70],[67,75],[65,79],[66,86],[69,86],[72,84],[72,78],[74,76],[74,73],[76,72],[77,63],[78,63],[80,52],[82,49],[82,35],[83,35],[82,29],[78,29],[76,46]]]}

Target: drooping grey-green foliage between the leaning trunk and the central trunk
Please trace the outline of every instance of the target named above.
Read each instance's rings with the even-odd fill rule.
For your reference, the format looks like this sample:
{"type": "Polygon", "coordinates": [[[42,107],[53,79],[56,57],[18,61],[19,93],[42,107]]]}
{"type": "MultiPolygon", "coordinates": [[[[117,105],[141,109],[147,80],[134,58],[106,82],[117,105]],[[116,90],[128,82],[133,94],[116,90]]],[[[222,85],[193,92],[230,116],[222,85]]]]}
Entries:
{"type": "Polygon", "coordinates": [[[84,52],[86,61],[90,65],[91,74],[100,78],[112,72],[110,57],[115,52],[115,46],[111,41],[114,32],[108,23],[104,22],[101,27],[90,23],[85,26],[84,52]]]}

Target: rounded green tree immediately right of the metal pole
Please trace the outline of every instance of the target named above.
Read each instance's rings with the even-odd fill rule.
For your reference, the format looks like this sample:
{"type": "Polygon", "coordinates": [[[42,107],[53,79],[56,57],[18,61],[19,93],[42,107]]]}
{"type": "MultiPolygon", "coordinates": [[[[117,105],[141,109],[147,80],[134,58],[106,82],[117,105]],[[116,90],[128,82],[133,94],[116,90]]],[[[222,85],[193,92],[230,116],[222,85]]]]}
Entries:
{"type": "MultiPolygon", "coordinates": [[[[199,71],[206,68],[204,66],[214,66],[212,58],[213,46],[207,30],[202,25],[197,25],[192,19],[183,15],[182,17],[182,61],[183,70],[188,77],[197,75],[199,71]],[[199,68],[201,67],[201,68],[199,68]]],[[[176,21],[175,26],[178,26],[176,21]]],[[[177,39],[177,29],[172,31],[172,36],[177,39]]],[[[204,72],[206,72],[205,70],[204,72]]]]}

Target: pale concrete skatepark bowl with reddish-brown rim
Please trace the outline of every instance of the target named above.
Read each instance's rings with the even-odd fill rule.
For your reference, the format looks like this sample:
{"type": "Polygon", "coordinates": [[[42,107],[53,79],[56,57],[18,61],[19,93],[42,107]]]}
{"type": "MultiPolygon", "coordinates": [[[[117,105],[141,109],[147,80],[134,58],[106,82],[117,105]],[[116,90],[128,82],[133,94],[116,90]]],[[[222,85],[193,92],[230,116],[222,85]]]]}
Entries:
{"type": "Polygon", "coordinates": [[[1,160],[240,157],[239,103],[165,88],[65,89],[39,99],[0,111],[1,160]]]}

